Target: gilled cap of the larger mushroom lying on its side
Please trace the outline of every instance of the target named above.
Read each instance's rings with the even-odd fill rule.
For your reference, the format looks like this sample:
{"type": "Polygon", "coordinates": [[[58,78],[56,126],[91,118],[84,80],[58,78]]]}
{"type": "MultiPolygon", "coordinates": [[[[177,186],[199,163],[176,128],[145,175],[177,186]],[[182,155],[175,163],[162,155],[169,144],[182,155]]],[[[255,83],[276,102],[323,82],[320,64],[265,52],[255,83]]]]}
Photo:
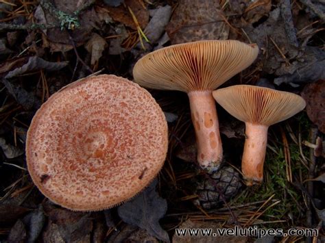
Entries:
{"type": "Polygon", "coordinates": [[[163,90],[215,90],[247,68],[258,54],[256,44],[238,40],[203,40],[158,49],[133,69],[141,86],[163,90]]]}

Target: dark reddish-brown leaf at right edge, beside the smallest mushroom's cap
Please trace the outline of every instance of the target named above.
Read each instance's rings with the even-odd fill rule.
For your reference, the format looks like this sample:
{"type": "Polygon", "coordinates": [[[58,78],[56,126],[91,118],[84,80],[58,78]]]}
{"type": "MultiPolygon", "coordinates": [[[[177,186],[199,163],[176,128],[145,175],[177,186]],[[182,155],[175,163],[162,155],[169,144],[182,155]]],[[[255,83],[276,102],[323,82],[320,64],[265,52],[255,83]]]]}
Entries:
{"type": "Polygon", "coordinates": [[[309,119],[317,125],[322,133],[325,133],[325,80],[321,79],[306,85],[302,90],[302,98],[306,101],[309,119]]]}

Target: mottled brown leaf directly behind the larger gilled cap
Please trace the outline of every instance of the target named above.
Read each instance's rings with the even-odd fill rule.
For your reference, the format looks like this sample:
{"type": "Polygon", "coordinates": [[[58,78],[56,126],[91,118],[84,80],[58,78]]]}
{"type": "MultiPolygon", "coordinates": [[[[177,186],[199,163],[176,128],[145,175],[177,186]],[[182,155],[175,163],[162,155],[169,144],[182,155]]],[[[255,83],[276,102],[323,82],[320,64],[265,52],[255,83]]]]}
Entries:
{"type": "Polygon", "coordinates": [[[229,27],[217,0],[181,0],[166,31],[172,44],[195,40],[225,40],[229,27]]]}

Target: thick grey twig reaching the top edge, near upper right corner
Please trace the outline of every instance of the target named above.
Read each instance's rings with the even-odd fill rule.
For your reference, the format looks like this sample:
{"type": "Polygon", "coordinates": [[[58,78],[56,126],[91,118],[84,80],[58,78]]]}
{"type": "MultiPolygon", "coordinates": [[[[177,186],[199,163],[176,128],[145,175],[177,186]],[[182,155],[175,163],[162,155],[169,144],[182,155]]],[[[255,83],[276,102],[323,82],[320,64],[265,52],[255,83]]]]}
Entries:
{"type": "Polygon", "coordinates": [[[293,25],[290,0],[282,0],[280,5],[282,20],[285,23],[285,32],[289,42],[298,47],[296,28],[293,25]]]}

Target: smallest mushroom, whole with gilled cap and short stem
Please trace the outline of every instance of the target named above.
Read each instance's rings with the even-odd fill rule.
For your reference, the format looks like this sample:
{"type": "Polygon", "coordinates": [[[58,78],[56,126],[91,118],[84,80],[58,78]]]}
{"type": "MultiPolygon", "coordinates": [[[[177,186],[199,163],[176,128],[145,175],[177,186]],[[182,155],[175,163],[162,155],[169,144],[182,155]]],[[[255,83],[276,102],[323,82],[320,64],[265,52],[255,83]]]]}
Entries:
{"type": "Polygon", "coordinates": [[[215,90],[213,97],[232,116],[245,122],[243,177],[248,186],[261,183],[268,127],[303,110],[304,99],[290,92],[248,85],[215,90]]]}

